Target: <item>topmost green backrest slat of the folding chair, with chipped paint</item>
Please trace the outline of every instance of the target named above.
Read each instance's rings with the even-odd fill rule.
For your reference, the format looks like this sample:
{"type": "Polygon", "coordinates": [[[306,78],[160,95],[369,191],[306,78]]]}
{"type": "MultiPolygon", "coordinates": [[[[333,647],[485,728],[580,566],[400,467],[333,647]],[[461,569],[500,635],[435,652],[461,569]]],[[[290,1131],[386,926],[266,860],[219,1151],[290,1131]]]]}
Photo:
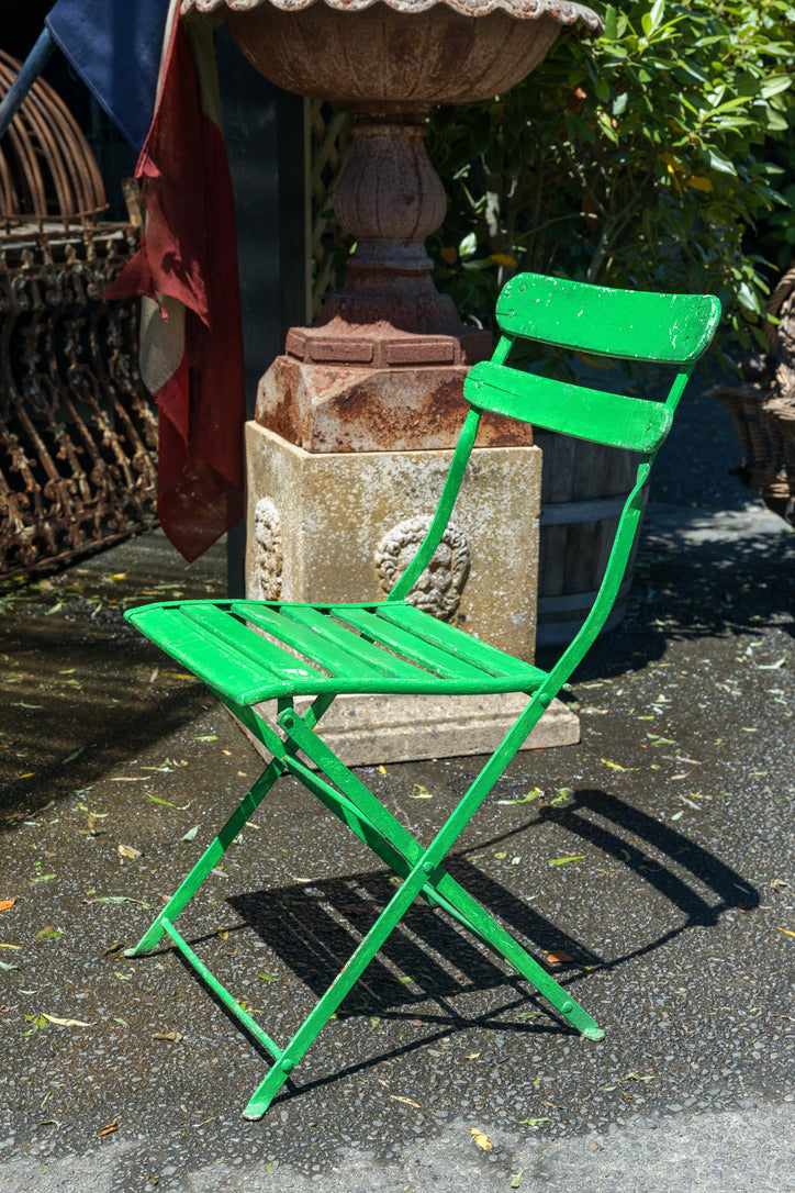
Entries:
{"type": "Polygon", "coordinates": [[[679,365],[692,364],[709,346],[720,314],[710,295],[608,290],[536,273],[517,273],[497,299],[497,322],[508,335],[679,365]]]}

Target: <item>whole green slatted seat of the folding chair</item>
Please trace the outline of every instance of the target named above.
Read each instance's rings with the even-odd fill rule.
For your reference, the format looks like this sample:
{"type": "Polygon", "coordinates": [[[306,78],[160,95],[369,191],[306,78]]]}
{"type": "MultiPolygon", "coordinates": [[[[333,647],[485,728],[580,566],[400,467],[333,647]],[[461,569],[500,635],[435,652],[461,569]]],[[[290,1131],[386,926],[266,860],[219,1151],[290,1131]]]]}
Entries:
{"type": "Polygon", "coordinates": [[[408,601],[168,601],[129,619],[241,705],[323,692],[529,693],[546,674],[408,601]]]}

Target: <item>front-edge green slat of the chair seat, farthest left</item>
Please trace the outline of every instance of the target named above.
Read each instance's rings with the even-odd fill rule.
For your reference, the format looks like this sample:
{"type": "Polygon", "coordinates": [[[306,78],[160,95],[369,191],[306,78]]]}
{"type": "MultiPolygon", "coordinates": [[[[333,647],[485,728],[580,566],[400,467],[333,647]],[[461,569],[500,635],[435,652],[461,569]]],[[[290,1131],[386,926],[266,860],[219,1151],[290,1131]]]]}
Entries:
{"type": "Polygon", "coordinates": [[[242,700],[253,688],[267,686],[261,667],[219,651],[212,633],[190,622],[179,606],[143,605],[125,617],[215,691],[242,700]]]}

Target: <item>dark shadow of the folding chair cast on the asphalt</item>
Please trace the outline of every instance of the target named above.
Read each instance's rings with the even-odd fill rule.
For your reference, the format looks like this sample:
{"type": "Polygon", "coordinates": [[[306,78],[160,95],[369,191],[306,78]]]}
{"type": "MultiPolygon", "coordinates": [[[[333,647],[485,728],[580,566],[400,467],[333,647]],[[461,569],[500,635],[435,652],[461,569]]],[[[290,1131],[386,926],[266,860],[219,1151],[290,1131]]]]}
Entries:
{"type": "MultiPolygon", "coordinates": [[[[677,829],[602,790],[577,791],[566,808],[542,809],[499,836],[479,840],[452,853],[446,865],[536,958],[553,948],[570,954],[570,963],[554,969],[555,979],[564,987],[582,982],[595,970],[611,971],[653,953],[689,928],[714,926],[733,908],[750,910],[759,904],[759,892],[720,858],[677,829]],[[598,849],[605,859],[641,876],[679,913],[675,922],[669,921],[654,939],[620,956],[605,957],[594,942],[561,932],[468,860],[470,854],[504,845],[548,818],[554,818],[583,845],[598,849]],[[645,842],[648,852],[632,843],[629,835],[645,842]],[[694,885],[706,888],[706,894],[698,894],[694,885]]],[[[231,931],[251,929],[319,997],[395,890],[393,876],[379,869],[268,891],[249,891],[228,900],[240,916],[231,931]]],[[[200,939],[210,940],[211,935],[200,939]]],[[[367,966],[342,1002],[337,1019],[374,1015],[383,1020],[411,1020],[416,1026],[427,1026],[429,1033],[378,1056],[352,1062],[322,1078],[291,1082],[279,1100],[405,1056],[473,1026],[515,1033],[574,1034],[573,1028],[557,1019],[552,1008],[539,1000],[528,983],[508,972],[502,962],[492,960],[464,929],[421,901],[412,904],[367,966]],[[490,990],[503,991],[503,995],[497,1005],[484,1008],[480,996],[490,990]],[[468,997],[462,1000],[466,1010],[456,1006],[461,995],[476,996],[473,1010],[468,997]],[[429,1002],[437,1009],[429,1010],[429,1002]]],[[[263,1026],[267,1028],[267,1021],[263,1026]]],[[[269,1062],[263,1050],[262,1056],[269,1062]]]]}

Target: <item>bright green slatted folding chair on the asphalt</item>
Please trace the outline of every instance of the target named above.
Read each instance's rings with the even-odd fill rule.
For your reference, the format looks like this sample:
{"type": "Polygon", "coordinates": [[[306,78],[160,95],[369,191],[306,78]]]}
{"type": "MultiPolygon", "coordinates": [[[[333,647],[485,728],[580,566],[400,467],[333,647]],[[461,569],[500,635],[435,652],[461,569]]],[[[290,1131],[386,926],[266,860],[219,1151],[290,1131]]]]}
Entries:
{"type": "MultiPolygon", "coordinates": [[[[518,274],[497,303],[501,339],[489,363],[474,365],[464,392],[470,404],[439,507],[417,555],[378,604],[309,605],[254,600],[164,601],[126,613],[132,625],[194,672],[272,755],[259,780],[204,857],[128,957],[168,937],[253,1038],[273,1056],[246,1118],[261,1117],[365,968],[418,896],[446,911],[482,945],[518,971],[589,1039],[602,1030],[571,995],[445,870],[445,857],[492,790],[524,738],[604,625],[623,579],[641,517],[641,490],[673,412],[720,319],[713,297],[608,290],[518,274]],[[511,367],[517,339],[574,352],[672,365],[667,396],[635,398],[552,381],[511,367]],[[412,586],[447,527],[484,412],[639,453],[638,475],[621,514],[607,573],[577,637],[551,670],[480,642],[411,604],[412,586]],[[487,759],[427,848],[389,812],[334,752],[317,728],[335,697],[349,692],[434,693],[454,697],[520,692],[527,706],[487,759]],[[303,716],[296,697],[311,697],[303,716]],[[275,699],[271,728],[255,711],[275,699]],[[303,752],[316,771],[300,758],[303,752]],[[281,775],[299,779],[400,879],[380,916],[292,1039],[277,1044],[216,979],[174,921],[281,775]]],[[[659,370],[656,371],[659,375],[659,370]]],[[[454,701],[453,701],[454,709],[454,701]]],[[[452,713],[454,716],[454,711],[452,713]]]]}

